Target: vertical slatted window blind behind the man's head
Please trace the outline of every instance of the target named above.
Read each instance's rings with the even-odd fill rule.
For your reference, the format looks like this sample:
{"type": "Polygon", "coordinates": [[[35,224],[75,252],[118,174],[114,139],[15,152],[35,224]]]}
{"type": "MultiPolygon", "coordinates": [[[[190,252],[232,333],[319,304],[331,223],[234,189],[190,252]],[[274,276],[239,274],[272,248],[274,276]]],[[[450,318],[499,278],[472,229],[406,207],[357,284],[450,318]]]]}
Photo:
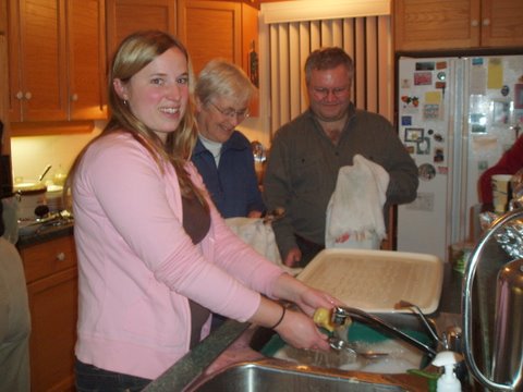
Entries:
{"type": "MultiPolygon", "coordinates": [[[[272,135],[308,107],[303,66],[326,46],[354,60],[352,87],[357,108],[392,121],[393,54],[390,15],[263,23],[260,17],[260,113],[272,135]]],[[[265,127],[265,126],[264,126],[265,127]]]]}

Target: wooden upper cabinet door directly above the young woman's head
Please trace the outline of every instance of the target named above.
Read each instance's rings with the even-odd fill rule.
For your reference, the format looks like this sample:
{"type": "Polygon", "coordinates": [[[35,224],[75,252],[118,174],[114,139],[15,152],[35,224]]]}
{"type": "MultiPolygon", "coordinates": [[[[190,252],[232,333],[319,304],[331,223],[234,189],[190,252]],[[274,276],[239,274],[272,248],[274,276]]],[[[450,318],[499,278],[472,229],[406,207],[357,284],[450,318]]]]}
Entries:
{"type": "Polygon", "coordinates": [[[161,29],[175,35],[175,0],[107,0],[107,42],[110,58],[123,38],[144,29],[161,29]]]}

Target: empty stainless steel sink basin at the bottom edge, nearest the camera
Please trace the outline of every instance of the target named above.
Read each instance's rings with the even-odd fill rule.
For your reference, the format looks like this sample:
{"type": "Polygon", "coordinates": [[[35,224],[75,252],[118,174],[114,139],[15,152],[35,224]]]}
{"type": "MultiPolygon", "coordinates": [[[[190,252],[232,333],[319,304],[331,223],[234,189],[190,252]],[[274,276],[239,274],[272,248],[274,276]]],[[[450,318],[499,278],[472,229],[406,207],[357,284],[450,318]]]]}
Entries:
{"type": "Polygon", "coordinates": [[[413,387],[412,379],[411,383],[408,383],[406,380],[387,376],[355,377],[348,371],[327,371],[277,359],[264,359],[232,365],[212,377],[199,380],[185,391],[426,391],[427,385],[423,383],[423,379],[416,381],[419,382],[418,388],[413,387]]]}

